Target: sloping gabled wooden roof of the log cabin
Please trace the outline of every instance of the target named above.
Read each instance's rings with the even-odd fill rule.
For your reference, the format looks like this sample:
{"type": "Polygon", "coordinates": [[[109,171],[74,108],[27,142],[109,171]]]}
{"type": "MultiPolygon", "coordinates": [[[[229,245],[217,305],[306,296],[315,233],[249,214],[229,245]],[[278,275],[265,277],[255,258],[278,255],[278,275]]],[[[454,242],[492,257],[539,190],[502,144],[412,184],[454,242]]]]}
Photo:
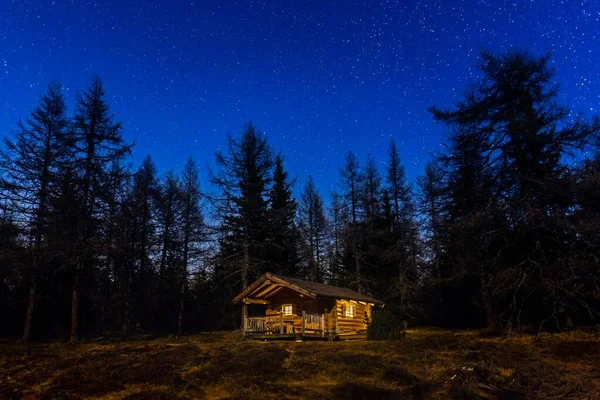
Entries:
{"type": "Polygon", "coordinates": [[[266,300],[283,287],[288,287],[312,298],[319,296],[383,304],[382,301],[376,300],[373,297],[365,296],[364,294],[358,293],[352,289],[327,285],[325,283],[306,281],[303,279],[290,278],[288,276],[275,275],[270,272],[263,274],[260,278],[250,284],[233,299],[233,302],[237,303],[246,297],[266,300]]]}

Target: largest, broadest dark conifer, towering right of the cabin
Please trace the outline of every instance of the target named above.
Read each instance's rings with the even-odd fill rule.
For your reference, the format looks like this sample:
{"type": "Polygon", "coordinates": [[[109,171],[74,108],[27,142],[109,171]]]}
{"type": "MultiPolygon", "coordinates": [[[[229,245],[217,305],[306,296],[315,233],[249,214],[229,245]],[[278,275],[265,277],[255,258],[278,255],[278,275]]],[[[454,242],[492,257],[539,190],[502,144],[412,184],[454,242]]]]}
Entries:
{"type": "Polygon", "coordinates": [[[474,272],[469,286],[479,292],[488,327],[543,326],[542,316],[573,305],[555,289],[572,281],[564,264],[576,240],[567,223],[573,196],[564,156],[600,122],[568,120],[569,110],[555,101],[548,56],[484,52],[482,59],[481,81],[456,109],[432,110],[453,129],[447,252],[461,256],[452,268],[474,272]]]}

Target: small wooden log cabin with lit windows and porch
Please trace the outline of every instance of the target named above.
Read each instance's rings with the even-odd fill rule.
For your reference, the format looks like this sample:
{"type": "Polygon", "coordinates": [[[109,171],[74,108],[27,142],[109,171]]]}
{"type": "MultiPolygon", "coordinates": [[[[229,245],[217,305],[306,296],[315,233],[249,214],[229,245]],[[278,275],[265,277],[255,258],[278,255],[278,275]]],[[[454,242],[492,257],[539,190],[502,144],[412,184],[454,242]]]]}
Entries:
{"type": "Polygon", "coordinates": [[[244,337],[253,339],[364,338],[383,302],[354,290],[266,273],[234,303],[247,305],[244,337]]]}

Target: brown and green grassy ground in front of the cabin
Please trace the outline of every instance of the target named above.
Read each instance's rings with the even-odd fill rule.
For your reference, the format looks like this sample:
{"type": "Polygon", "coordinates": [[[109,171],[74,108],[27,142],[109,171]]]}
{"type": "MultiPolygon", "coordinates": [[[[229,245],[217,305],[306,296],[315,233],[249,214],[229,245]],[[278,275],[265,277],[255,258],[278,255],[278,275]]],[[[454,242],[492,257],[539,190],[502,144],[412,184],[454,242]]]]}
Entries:
{"type": "Polygon", "coordinates": [[[0,343],[0,399],[595,399],[600,336],[490,338],[409,330],[398,341],[183,338],[0,343]]]}

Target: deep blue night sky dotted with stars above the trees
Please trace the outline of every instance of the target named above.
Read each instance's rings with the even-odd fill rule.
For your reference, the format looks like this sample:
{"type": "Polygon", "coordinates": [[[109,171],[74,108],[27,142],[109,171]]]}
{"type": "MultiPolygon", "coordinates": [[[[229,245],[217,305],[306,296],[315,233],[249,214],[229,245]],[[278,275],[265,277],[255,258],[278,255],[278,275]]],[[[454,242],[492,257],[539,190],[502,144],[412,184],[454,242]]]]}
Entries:
{"type": "Polygon", "coordinates": [[[252,121],[300,186],[327,195],[348,150],[407,175],[440,150],[427,108],[477,79],[482,48],[548,51],[560,100],[600,108],[598,0],[0,0],[0,135],[50,80],[72,105],[99,75],[111,109],[160,172],[202,170],[252,121]]]}

